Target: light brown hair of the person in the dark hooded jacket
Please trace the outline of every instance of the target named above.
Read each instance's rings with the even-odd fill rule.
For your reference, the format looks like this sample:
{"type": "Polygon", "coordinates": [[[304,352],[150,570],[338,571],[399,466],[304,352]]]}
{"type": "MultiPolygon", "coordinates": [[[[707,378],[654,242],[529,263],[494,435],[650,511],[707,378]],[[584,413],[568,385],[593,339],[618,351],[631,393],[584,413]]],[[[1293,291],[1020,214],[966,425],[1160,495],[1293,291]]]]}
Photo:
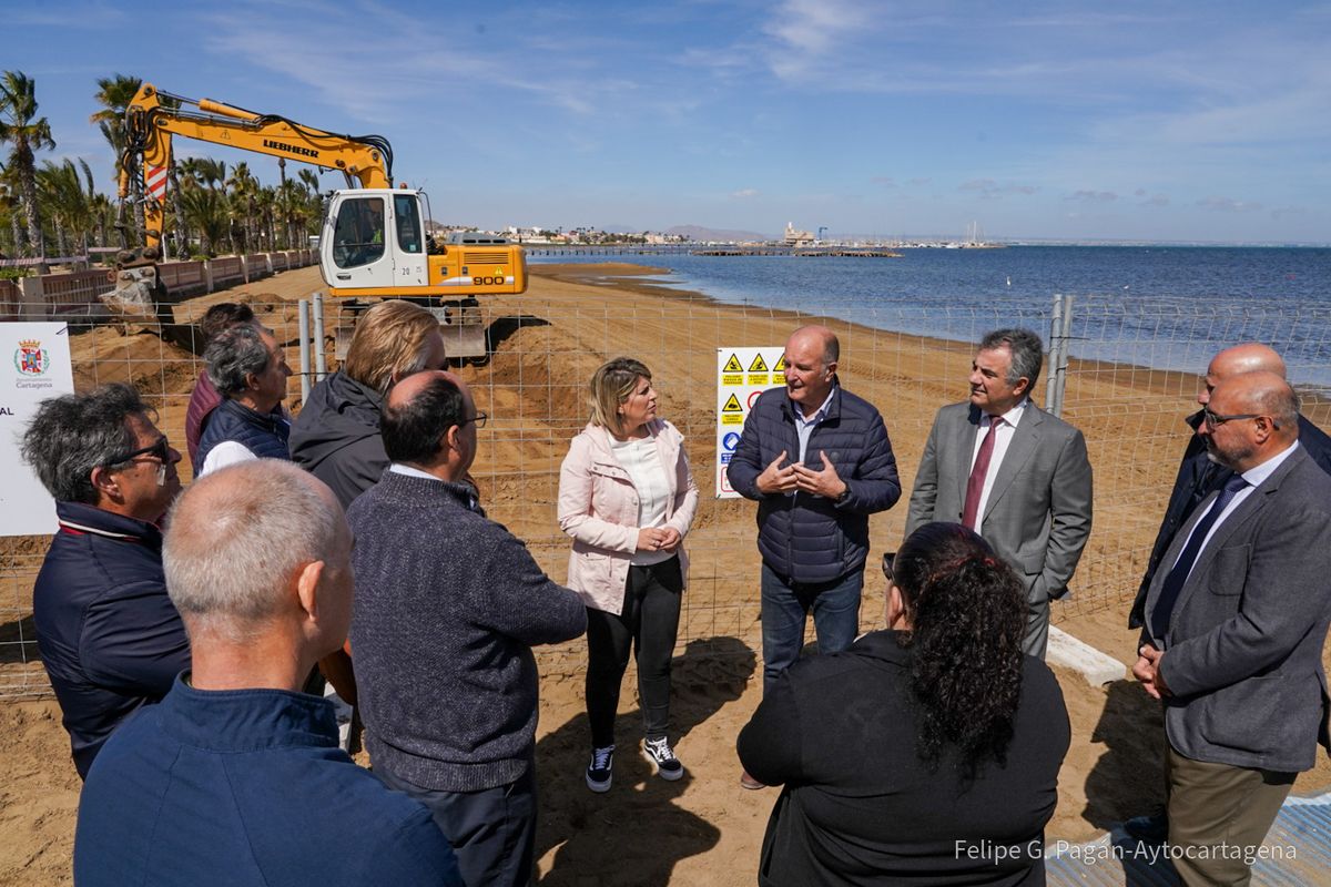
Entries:
{"type": "Polygon", "coordinates": [[[357,320],[342,372],[387,394],[394,376],[425,370],[426,342],[438,331],[439,320],[419,305],[379,302],[357,320]]]}

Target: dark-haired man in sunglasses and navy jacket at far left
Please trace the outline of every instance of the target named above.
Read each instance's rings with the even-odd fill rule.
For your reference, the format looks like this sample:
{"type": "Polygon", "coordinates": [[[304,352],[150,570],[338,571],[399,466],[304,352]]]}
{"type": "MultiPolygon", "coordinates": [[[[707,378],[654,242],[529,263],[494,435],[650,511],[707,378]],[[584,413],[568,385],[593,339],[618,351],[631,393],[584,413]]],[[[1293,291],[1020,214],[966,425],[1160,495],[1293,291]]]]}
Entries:
{"type": "Polygon", "coordinates": [[[180,453],[138,392],[110,384],[44,400],[24,432],[23,457],[60,521],[32,609],[83,778],[116,726],[161,699],[189,665],[158,527],[180,493],[180,453]]]}

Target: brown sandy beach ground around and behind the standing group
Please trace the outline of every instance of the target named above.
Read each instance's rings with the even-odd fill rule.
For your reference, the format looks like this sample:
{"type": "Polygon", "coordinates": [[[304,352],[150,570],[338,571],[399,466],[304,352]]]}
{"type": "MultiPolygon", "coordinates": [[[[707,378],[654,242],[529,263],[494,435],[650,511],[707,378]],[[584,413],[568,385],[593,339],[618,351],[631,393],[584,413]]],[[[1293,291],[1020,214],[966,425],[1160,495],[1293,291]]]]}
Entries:
{"type": "MultiPolygon", "coordinates": [[[[836,320],[835,305],[811,306],[799,315],[719,305],[644,281],[646,269],[632,265],[538,265],[531,271],[526,294],[483,302],[492,323],[494,355],[484,366],[461,371],[478,408],[490,415],[473,469],[490,516],[527,540],[542,565],[563,578],[568,543],[555,523],[559,463],[586,420],[587,379],[599,363],[619,354],[652,368],[662,392],[660,414],[684,432],[703,491],[687,540],[693,565],[672,709],[677,753],[688,775],[667,783],[650,777],[647,763],[634,754],[620,754],[614,790],[588,793],[582,773],[590,745],[582,707],[583,644],[540,650],[540,883],[751,884],[777,790],[745,791],[737,782],[735,737],[761,694],[759,560],[753,504],[712,497],[716,351],[779,347],[804,322],[832,326],[841,338],[841,382],[882,412],[908,496],[936,410],[965,395],[972,346],[836,320]]],[[[180,306],[177,317],[184,320],[213,302],[241,299],[294,340],[294,301],[319,286],[317,269],[302,269],[194,299],[180,306]]],[[[330,301],[330,330],[337,311],[330,301]]],[[[184,410],[198,372],[197,358],[150,332],[129,332],[101,327],[75,336],[76,383],[134,382],[160,410],[162,430],[173,442],[184,442],[184,410]]],[[[289,360],[298,366],[294,347],[289,360]]],[[[291,382],[293,408],[298,408],[299,384],[291,382]]],[[[1085,432],[1090,448],[1095,529],[1073,596],[1055,604],[1054,618],[1059,628],[1125,664],[1137,640],[1126,629],[1126,610],[1186,442],[1182,418],[1195,408],[1194,391],[1195,376],[1189,374],[1091,362],[1070,367],[1065,418],[1085,432]]],[[[1037,394],[1042,399],[1044,380],[1037,394]]],[[[1326,426],[1324,411],[1324,404],[1306,410],[1326,426]]],[[[874,556],[896,548],[904,523],[904,503],[873,517],[874,556]]],[[[0,545],[4,573],[33,570],[44,549],[40,537],[5,540],[0,545]]],[[[882,590],[882,578],[870,570],[861,629],[881,628],[882,590]]],[[[13,624],[0,625],[0,640],[12,640],[16,632],[13,624]]],[[[31,637],[31,624],[25,632],[31,637]]],[[[12,658],[0,660],[0,677],[40,672],[12,658]]],[[[1073,745],[1046,836],[1090,839],[1162,799],[1161,718],[1157,705],[1130,681],[1091,688],[1071,673],[1059,672],[1058,678],[1073,745]]],[[[620,749],[631,749],[639,730],[630,673],[619,719],[620,749]]],[[[361,761],[369,763],[363,755],[361,761]]],[[[1323,758],[1316,770],[1299,778],[1295,791],[1328,783],[1331,766],[1323,758]]],[[[49,698],[0,702],[0,883],[71,880],[77,793],[56,703],[49,698]]]]}

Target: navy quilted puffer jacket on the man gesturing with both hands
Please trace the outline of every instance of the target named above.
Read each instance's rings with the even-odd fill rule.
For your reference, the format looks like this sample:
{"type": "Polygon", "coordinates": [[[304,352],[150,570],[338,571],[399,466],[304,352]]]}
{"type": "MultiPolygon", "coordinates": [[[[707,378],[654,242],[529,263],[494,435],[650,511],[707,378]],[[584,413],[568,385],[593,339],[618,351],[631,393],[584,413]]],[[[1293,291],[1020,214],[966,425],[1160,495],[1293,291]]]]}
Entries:
{"type": "Polygon", "coordinates": [[[849,493],[843,501],[797,492],[764,495],[757,476],[781,451],[789,461],[800,453],[795,412],[785,388],[759,396],[744,420],[744,432],[727,468],[731,487],[756,499],[757,548],[763,561],[795,582],[827,582],[864,569],[869,555],[869,515],[901,499],[897,460],[882,416],[872,403],[840,384],[827,416],[813,428],[804,463],[823,468],[824,451],[849,493]]]}

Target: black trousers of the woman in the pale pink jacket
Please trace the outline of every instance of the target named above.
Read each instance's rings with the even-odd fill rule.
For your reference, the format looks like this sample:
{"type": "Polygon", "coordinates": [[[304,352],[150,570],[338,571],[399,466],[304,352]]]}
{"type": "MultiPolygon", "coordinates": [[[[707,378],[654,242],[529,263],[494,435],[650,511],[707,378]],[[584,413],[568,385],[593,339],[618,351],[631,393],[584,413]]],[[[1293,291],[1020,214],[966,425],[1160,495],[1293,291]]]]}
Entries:
{"type": "Polygon", "coordinates": [[[669,729],[669,664],[679,634],[684,577],[679,557],[650,567],[630,567],[624,608],[619,616],[587,609],[587,719],[591,743],[615,743],[619,686],[630,648],[638,652],[638,697],[648,739],[669,729]]]}

